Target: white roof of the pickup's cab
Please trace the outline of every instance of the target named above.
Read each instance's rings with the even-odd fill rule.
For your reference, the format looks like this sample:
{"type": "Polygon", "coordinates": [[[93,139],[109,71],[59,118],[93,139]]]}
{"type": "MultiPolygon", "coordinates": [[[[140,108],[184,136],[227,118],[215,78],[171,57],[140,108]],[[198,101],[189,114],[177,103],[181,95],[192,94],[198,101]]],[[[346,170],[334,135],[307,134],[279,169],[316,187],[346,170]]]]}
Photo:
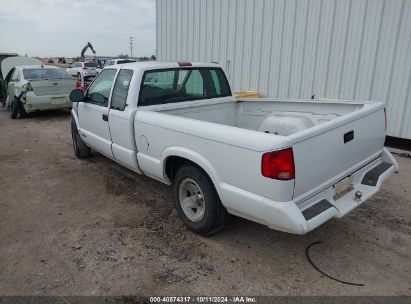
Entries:
{"type": "Polygon", "coordinates": [[[123,63],[123,64],[116,64],[110,65],[107,68],[119,68],[127,66],[127,68],[135,69],[135,70],[155,70],[155,69],[171,69],[171,68],[179,68],[179,67],[207,67],[207,68],[218,68],[220,65],[218,63],[210,63],[210,62],[162,62],[162,61],[139,61],[139,62],[130,62],[130,63],[123,63]],[[189,65],[191,64],[191,65],[189,65]]]}

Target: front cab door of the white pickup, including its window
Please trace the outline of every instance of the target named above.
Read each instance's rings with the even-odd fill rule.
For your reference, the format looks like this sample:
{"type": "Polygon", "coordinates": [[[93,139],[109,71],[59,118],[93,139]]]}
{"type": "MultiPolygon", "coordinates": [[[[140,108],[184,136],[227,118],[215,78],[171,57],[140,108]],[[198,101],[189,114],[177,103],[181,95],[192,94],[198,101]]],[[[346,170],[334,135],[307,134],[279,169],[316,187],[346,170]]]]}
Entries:
{"type": "Polygon", "coordinates": [[[108,101],[116,69],[106,69],[96,77],[87,90],[84,102],[78,104],[80,136],[87,145],[113,158],[109,128],[108,101]]]}

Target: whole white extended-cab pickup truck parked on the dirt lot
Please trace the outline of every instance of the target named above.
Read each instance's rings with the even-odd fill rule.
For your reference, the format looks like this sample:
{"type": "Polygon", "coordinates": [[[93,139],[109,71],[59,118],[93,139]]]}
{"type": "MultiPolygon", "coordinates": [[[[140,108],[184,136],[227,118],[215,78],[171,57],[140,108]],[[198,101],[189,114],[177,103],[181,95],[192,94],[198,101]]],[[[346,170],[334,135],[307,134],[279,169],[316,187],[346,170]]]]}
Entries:
{"type": "Polygon", "coordinates": [[[178,214],[203,235],[229,214],[304,234],[398,170],[383,103],[236,100],[217,64],[109,66],[70,97],[76,156],[93,148],[173,184],[178,214]]]}

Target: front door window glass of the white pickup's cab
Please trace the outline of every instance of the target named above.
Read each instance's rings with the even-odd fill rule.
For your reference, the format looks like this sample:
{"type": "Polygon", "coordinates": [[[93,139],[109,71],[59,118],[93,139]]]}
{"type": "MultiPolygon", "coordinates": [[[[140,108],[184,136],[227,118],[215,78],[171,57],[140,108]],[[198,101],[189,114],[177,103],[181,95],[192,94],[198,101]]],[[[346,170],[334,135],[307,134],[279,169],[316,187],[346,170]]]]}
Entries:
{"type": "Polygon", "coordinates": [[[87,91],[87,101],[107,107],[116,73],[117,70],[112,69],[101,71],[87,91]]]}

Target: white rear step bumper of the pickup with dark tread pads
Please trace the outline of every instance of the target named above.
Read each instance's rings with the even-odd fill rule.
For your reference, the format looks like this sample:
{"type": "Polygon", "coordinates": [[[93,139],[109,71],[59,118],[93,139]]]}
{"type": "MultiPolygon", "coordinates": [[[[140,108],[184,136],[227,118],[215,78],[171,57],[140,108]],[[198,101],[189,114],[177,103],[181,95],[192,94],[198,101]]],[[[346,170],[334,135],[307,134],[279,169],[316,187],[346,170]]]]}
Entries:
{"type": "Polygon", "coordinates": [[[398,164],[387,149],[381,156],[363,166],[350,176],[354,189],[334,200],[335,187],[330,186],[304,201],[276,202],[250,195],[254,206],[260,206],[258,214],[244,214],[235,210],[230,213],[265,224],[272,229],[294,234],[305,234],[332,218],[341,218],[379,191],[382,183],[394,172],[398,164]],[[361,198],[355,193],[360,191],[361,198]]]}

